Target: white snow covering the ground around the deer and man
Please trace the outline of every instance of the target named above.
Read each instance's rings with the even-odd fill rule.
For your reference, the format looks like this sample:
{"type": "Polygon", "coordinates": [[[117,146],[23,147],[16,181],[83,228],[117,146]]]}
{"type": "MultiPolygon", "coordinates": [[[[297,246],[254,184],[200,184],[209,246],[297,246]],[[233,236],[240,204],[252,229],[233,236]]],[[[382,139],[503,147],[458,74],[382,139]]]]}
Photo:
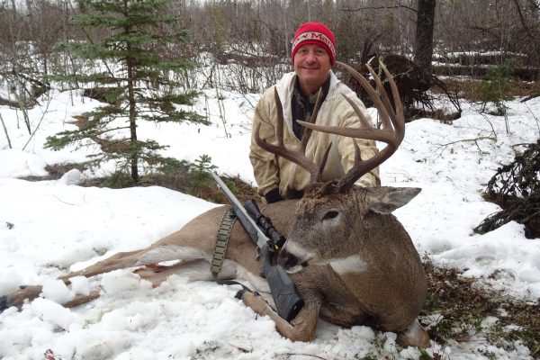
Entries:
{"type": "MultiPolygon", "coordinates": [[[[165,154],[193,161],[211,157],[218,172],[254,182],[247,158],[257,94],[223,92],[222,121],[214,91],[204,92],[194,110],[211,114],[211,126],[139,124],[139,133],[169,145],[165,154]],[[206,100],[204,100],[204,98],[206,100]],[[208,106],[208,107],[206,107],[208,106]]],[[[172,276],[152,288],[129,270],[116,270],[66,286],[55,280],[121,251],[148,247],[216,206],[162,187],[107,189],[78,186],[82,178],[112,171],[112,164],[84,173],[74,169],[57,181],[17,177],[45,175],[44,166],[79,162],[95,148],[44,149],[47,136],[73,129],[71,117],[97,103],[75,92],[52,92],[29,112],[30,137],[13,109],[0,107],[14,149],[0,133],[0,295],[22,284],[43,284],[40,298],[0,314],[0,357],[4,359],[418,359],[419,349],[401,349],[396,335],[368,327],[341,329],[320,320],[312,343],[282,338],[274,323],[257,317],[234,298],[238,287],[188,283],[172,276]],[[39,124],[39,126],[38,126],[39,124]],[[24,149],[23,149],[24,148],[24,149]],[[58,303],[102,289],[102,296],[74,309],[58,303]],[[377,345],[379,344],[379,345],[377,345]]],[[[536,302],[540,298],[540,242],[527,239],[510,222],[485,235],[473,228],[497,205],[482,190],[498,166],[509,163],[518,144],[540,137],[540,98],[509,105],[505,119],[480,114],[464,103],[454,125],[420,119],[407,125],[401,148],[381,166],[383,184],[421,187],[395,211],[421,256],[438,266],[466,269],[485,286],[536,302]],[[496,276],[490,276],[496,274],[496,276]]],[[[496,319],[484,320],[486,325],[496,319]]],[[[437,352],[452,359],[531,358],[527,347],[488,345],[482,338],[437,352]]]]}

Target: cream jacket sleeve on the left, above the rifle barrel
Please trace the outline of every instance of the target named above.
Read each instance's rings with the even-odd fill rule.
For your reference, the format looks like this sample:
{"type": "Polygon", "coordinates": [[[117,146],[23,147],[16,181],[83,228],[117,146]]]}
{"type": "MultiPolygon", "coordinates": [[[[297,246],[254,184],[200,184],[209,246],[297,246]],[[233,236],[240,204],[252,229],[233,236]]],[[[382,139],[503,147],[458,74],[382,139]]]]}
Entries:
{"type": "MultiPolygon", "coordinates": [[[[274,94],[274,87],[271,88],[271,94],[274,94]]],[[[271,102],[268,101],[266,91],[261,97],[255,108],[255,116],[253,118],[253,127],[251,131],[251,145],[249,147],[249,160],[253,166],[253,174],[257,181],[258,193],[265,196],[267,193],[275,193],[275,189],[279,188],[279,167],[277,158],[274,154],[260,148],[255,143],[255,131],[257,126],[260,126],[259,136],[261,139],[269,143],[275,143],[275,115],[273,114],[271,102]]]]}

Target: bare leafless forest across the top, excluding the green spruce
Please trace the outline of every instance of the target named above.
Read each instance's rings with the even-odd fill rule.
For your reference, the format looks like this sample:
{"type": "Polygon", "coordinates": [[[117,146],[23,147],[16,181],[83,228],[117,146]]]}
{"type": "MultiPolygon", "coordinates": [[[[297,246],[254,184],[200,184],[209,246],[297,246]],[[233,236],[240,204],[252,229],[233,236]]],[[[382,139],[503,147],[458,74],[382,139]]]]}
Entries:
{"type": "MultiPolygon", "coordinates": [[[[171,41],[163,49],[166,58],[188,58],[201,65],[205,54],[205,64],[237,62],[252,69],[222,79],[196,78],[188,72],[186,88],[202,88],[211,81],[259,93],[290,68],[293,33],[307,21],[328,24],[336,34],[338,58],[345,62],[365,63],[374,54],[394,53],[421,67],[430,67],[425,58],[433,58],[436,74],[484,76],[486,67],[480,65],[513,58],[525,71],[523,77],[533,80],[540,67],[539,7],[536,0],[179,0],[160,12],[179,19],[175,25],[163,24],[168,31],[190,34],[188,40],[171,41]],[[429,26],[433,32],[426,35],[422,29],[429,26]]],[[[2,1],[0,78],[39,80],[80,67],[58,50],[58,42],[99,42],[111,32],[70,24],[81,12],[85,7],[71,1],[2,1]]]]}

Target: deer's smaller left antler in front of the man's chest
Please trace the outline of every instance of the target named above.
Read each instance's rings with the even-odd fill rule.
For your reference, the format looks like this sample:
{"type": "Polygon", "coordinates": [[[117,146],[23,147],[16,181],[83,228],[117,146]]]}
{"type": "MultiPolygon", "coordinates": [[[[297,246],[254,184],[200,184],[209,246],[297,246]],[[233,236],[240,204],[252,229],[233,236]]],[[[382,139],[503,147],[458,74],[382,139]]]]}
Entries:
{"type": "MultiPolygon", "coordinates": [[[[294,164],[297,164],[299,166],[302,166],[304,169],[306,169],[310,173],[310,183],[318,183],[322,179],[322,170],[324,169],[324,166],[326,164],[326,160],[329,155],[330,147],[327,148],[325,156],[322,158],[322,161],[320,163],[320,166],[317,166],[313,161],[311,161],[308,157],[305,156],[306,146],[308,144],[308,140],[311,137],[312,130],[310,128],[307,128],[304,130],[302,135],[302,145],[301,148],[297,151],[293,151],[289,148],[286,148],[284,145],[284,109],[283,105],[281,103],[281,100],[279,99],[279,95],[277,94],[277,89],[274,90],[274,98],[275,98],[275,107],[277,111],[277,124],[275,128],[275,138],[278,141],[277,145],[270,144],[266,142],[266,140],[261,139],[259,136],[259,129],[260,124],[257,124],[257,127],[255,128],[255,142],[260,148],[264,148],[266,151],[275,154],[280,157],[284,157],[287,160],[293,162],[294,164]]],[[[319,93],[317,94],[317,101],[315,102],[315,107],[313,109],[313,113],[311,114],[311,119],[309,122],[302,121],[302,123],[313,123],[315,122],[315,119],[317,119],[317,113],[320,109],[320,103],[322,100],[322,92],[319,90],[319,93]]]]}

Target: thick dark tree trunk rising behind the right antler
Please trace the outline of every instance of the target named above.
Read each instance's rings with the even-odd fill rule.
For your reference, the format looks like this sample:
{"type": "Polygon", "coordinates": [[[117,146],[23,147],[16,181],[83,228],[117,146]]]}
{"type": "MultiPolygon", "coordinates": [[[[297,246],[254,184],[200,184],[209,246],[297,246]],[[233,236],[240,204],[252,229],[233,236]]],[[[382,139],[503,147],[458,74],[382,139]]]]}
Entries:
{"type": "Polygon", "coordinates": [[[414,61],[431,74],[436,0],[419,0],[414,61]]]}

